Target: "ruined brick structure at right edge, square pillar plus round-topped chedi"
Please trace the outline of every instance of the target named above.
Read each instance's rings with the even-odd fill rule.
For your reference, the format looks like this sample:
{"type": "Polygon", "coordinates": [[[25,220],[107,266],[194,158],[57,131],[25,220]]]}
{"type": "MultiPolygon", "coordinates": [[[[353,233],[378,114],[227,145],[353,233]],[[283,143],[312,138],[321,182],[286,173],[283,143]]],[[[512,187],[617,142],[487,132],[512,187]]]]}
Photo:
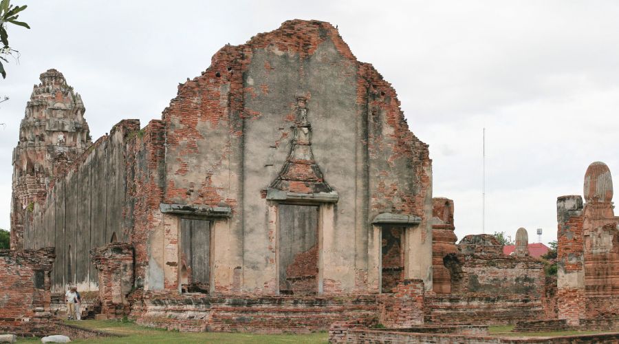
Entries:
{"type": "Polygon", "coordinates": [[[619,314],[619,217],[603,162],[585,173],[583,197],[558,197],[558,317],[568,323],[619,314]]]}

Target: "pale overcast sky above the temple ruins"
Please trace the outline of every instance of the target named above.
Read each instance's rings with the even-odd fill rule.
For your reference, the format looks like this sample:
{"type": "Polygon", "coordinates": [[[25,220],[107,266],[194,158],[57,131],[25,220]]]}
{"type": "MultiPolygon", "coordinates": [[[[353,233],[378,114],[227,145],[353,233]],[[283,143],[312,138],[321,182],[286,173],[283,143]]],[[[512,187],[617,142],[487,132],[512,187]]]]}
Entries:
{"type": "Polygon", "coordinates": [[[26,1],[9,26],[19,63],[0,80],[0,228],[9,228],[12,149],[39,74],[82,95],[94,140],[123,118],[160,118],[178,83],[226,43],[288,19],[338,25],[359,61],[393,84],[430,144],[433,195],[455,201],[458,239],[556,239],[556,197],[582,195],[589,163],[619,175],[619,1],[26,1]]]}

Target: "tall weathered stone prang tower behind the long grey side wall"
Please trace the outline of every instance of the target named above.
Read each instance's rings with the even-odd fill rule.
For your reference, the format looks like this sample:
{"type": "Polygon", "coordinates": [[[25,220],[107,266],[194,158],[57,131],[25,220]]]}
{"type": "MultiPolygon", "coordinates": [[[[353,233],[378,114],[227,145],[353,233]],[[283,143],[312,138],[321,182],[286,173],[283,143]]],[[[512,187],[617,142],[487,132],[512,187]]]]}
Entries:
{"type": "Polygon", "coordinates": [[[47,184],[91,144],[82,98],[56,69],[34,85],[19,142],[13,150],[11,248],[22,248],[23,224],[34,203],[45,200],[47,184]],[[26,212],[26,213],[24,213],[26,212]]]}

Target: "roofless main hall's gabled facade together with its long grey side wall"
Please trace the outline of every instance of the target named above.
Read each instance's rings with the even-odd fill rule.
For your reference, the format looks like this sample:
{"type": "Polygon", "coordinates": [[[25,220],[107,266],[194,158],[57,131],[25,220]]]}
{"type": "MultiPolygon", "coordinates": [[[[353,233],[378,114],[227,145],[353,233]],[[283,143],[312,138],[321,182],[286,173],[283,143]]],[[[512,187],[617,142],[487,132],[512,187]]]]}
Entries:
{"type": "Polygon", "coordinates": [[[290,279],[282,292],[378,293],[380,238],[397,224],[398,281],[429,290],[431,160],[399,106],[332,25],[287,21],[223,47],[162,120],[141,130],[124,120],[58,171],[26,245],[57,248],[57,292],[96,290],[89,250],[122,241],[146,290],[277,294],[290,279]],[[281,237],[288,205],[317,208],[316,228],[281,237]],[[191,221],[208,235],[187,235],[191,221]],[[315,245],[285,257],[281,244],[297,236],[315,245]]]}

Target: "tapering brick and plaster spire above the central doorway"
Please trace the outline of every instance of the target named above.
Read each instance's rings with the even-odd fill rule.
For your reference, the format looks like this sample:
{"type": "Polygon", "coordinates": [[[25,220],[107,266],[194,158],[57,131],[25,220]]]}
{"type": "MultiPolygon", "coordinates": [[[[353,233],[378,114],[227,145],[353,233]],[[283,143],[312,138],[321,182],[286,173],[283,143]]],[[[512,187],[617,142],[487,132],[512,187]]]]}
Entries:
{"type": "Polygon", "coordinates": [[[269,186],[269,199],[280,199],[283,196],[275,195],[282,193],[334,193],[314,160],[312,125],[307,113],[307,98],[298,97],[290,154],[279,175],[269,186]]]}

